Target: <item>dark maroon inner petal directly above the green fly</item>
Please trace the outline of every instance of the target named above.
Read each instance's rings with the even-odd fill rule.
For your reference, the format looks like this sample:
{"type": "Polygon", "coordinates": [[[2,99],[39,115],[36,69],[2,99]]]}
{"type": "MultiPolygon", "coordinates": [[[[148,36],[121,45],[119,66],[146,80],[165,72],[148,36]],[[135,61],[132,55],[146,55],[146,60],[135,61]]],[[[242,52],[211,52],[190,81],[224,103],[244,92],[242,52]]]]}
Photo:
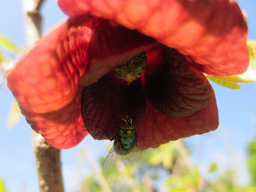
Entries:
{"type": "Polygon", "coordinates": [[[127,84],[111,72],[91,86],[83,88],[81,114],[84,126],[94,139],[109,139],[116,133],[117,126],[124,115],[130,114],[139,124],[145,113],[146,101],[142,84],[139,80],[127,84]],[[114,116],[113,116],[114,115],[114,116]]]}

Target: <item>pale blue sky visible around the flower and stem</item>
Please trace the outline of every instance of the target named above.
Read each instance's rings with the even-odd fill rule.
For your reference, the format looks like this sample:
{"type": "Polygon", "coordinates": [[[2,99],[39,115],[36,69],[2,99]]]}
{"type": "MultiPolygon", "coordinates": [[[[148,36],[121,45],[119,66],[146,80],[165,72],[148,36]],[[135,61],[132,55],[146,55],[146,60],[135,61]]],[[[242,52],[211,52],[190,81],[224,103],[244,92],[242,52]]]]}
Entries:
{"type": "MultiPolygon", "coordinates": [[[[247,12],[249,37],[256,39],[255,0],[240,0],[240,7],[247,12]]],[[[55,1],[48,0],[42,8],[44,31],[67,18],[57,7],[55,1]]],[[[24,47],[24,28],[22,4],[17,0],[0,1],[0,34],[15,45],[24,47]]],[[[208,165],[217,161],[221,169],[238,163],[238,180],[248,182],[245,169],[246,145],[255,138],[256,83],[241,84],[241,90],[230,90],[214,83],[219,108],[220,126],[218,131],[187,139],[195,147],[193,160],[206,174],[208,165]],[[206,168],[207,167],[207,168],[206,168]]],[[[3,176],[9,192],[38,191],[35,163],[33,158],[31,129],[24,118],[9,131],[6,119],[13,96],[4,86],[0,90],[0,177],[3,176]]],[[[94,141],[87,137],[81,144],[70,150],[62,151],[63,177],[67,191],[79,189],[79,184],[88,174],[88,167],[79,161],[78,154],[90,146],[95,150],[103,147],[104,141],[94,141]]],[[[104,152],[101,152],[104,154],[104,152]]],[[[99,155],[99,154],[96,154],[99,155]]]]}

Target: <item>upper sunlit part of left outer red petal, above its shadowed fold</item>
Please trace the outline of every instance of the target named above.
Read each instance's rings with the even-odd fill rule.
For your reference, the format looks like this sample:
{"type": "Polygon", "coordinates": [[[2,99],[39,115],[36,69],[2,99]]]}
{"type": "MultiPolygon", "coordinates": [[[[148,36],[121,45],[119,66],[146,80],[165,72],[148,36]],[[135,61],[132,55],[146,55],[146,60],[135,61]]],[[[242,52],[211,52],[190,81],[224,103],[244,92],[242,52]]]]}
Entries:
{"type": "Polygon", "coordinates": [[[25,111],[56,111],[75,97],[88,63],[92,28],[99,22],[88,16],[69,19],[17,63],[7,76],[7,85],[25,111]]]}

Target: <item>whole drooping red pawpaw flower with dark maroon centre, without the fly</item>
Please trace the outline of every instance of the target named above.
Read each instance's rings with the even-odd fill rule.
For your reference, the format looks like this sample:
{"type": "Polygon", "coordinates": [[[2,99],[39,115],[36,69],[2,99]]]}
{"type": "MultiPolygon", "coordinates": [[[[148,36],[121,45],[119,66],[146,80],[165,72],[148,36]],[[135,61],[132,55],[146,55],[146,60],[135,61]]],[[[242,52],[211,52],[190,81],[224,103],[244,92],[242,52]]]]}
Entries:
{"type": "Polygon", "coordinates": [[[32,129],[57,148],[88,132],[109,139],[130,114],[142,150],[216,130],[205,74],[246,71],[247,25],[236,1],[59,0],[70,16],[32,48],[7,83],[32,129]],[[114,116],[114,117],[113,117],[114,116]]]}

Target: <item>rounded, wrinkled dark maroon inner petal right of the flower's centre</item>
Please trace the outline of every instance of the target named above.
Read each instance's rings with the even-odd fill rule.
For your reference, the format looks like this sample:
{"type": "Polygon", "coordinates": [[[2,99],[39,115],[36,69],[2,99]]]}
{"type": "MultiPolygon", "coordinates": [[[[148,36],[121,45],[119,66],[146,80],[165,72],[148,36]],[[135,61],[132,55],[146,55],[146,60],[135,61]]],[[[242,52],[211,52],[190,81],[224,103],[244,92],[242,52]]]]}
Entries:
{"type": "Polygon", "coordinates": [[[212,90],[200,68],[174,49],[157,46],[152,50],[147,52],[144,80],[155,108],[170,117],[186,117],[205,108],[212,90]]]}

